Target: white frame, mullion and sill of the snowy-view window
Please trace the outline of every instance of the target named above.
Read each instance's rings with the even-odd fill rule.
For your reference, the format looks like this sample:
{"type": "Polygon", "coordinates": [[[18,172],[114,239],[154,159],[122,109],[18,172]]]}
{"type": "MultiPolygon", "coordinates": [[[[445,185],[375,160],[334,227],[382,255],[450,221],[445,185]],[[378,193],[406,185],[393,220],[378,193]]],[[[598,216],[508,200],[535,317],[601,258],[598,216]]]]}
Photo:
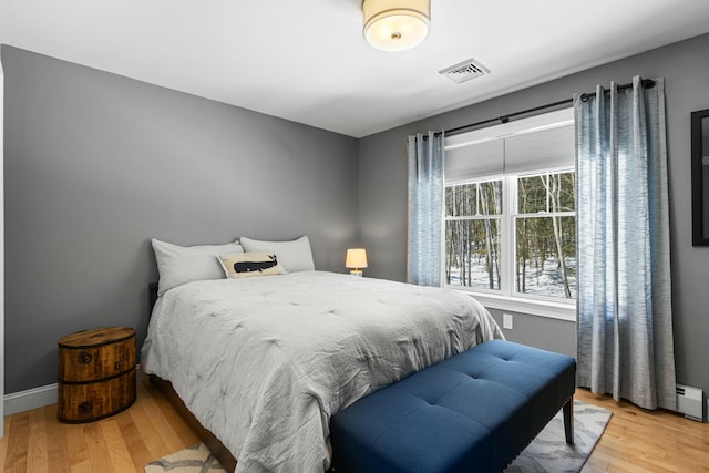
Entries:
{"type": "MultiPolygon", "coordinates": [[[[573,120],[573,114],[571,110],[564,112],[552,112],[555,113],[554,120],[573,120]]],[[[538,123],[540,117],[533,117],[534,121],[531,123],[538,123]]],[[[542,119],[543,120],[543,119],[542,119]]],[[[534,125],[532,125],[534,126],[534,125]]],[[[538,126],[538,125],[537,125],[538,126]]],[[[547,124],[543,124],[542,127],[548,126],[547,124]]],[[[528,132],[531,126],[525,127],[523,123],[514,122],[514,127],[507,127],[508,131],[505,132],[502,125],[491,127],[489,130],[487,137],[485,137],[485,132],[481,135],[481,131],[476,131],[477,140],[490,140],[493,136],[505,136],[512,135],[515,133],[526,133],[528,132]]],[[[450,138],[449,138],[450,140],[450,138]]],[[[456,135],[452,141],[446,141],[446,146],[459,146],[462,141],[464,141],[464,136],[456,135]]],[[[502,175],[489,175],[481,176],[480,178],[473,178],[466,181],[466,183],[473,182],[486,182],[494,179],[502,179],[502,215],[499,218],[500,220],[500,290],[497,289],[480,289],[480,288],[470,288],[470,287],[461,287],[461,286],[451,286],[443,282],[443,285],[452,290],[460,290],[471,296],[475,297],[483,306],[493,309],[500,310],[508,310],[514,312],[527,313],[532,316],[540,317],[548,317],[561,320],[569,320],[576,321],[576,299],[564,299],[556,298],[552,296],[540,296],[540,295],[530,295],[530,294],[520,294],[515,291],[515,264],[516,264],[516,232],[515,232],[515,219],[520,216],[525,216],[526,214],[518,214],[517,207],[517,179],[520,177],[535,175],[540,173],[556,173],[556,172],[575,172],[573,167],[563,166],[563,167],[549,167],[542,168],[535,171],[525,171],[521,173],[511,173],[511,174],[502,174],[502,175]]],[[[463,182],[455,183],[446,183],[445,186],[453,186],[464,184],[463,182]]],[[[443,209],[443,213],[445,210],[443,209]]],[[[576,212],[566,212],[566,213],[555,213],[549,215],[567,215],[575,216],[576,212]]],[[[538,214],[534,214],[532,216],[540,216],[538,214]]],[[[443,224],[442,232],[445,233],[445,225],[449,219],[445,215],[443,215],[443,224]]],[[[445,255],[445,239],[442,241],[442,254],[445,255]]],[[[441,273],[444,274],[444,258],[441,261],[441,273]]],[[[444,278],[442,278],[445,281],[444,278]]]]}

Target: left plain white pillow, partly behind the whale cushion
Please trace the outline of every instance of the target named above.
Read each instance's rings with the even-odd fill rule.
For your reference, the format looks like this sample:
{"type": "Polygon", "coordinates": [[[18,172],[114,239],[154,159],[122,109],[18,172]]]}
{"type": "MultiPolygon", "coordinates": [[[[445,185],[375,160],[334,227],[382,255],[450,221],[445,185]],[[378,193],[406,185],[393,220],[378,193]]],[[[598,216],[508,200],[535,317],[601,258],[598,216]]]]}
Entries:
{"type": "Polygon", "coordinates": [[[226,245],[178,246],[153,238],[152,243],[160,273],[157,296],[187,282],[224,279],[224,270],[215,256],[244,253],[238,241],[226,245]]]}

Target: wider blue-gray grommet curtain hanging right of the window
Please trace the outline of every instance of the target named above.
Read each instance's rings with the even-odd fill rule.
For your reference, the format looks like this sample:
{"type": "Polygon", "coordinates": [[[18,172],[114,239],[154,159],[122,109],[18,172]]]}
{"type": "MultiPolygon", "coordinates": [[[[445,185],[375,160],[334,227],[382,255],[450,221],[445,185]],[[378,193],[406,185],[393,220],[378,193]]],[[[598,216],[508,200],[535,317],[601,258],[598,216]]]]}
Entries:
{"type": "Polygon", "coordinates": [[[665,83],[574,97],[577,382],[676,408],[665,83]]]}

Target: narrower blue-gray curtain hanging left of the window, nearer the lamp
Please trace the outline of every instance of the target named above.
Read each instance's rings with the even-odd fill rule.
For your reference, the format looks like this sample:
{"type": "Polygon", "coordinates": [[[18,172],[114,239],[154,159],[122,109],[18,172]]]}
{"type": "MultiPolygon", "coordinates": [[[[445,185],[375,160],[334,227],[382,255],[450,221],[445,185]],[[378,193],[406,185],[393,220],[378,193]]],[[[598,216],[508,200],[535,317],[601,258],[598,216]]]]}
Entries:
{"type": "Polygon", "coordinates": [[[409,235],[407,280],[441,286],[443,134],[409,136],[409,235]]]}

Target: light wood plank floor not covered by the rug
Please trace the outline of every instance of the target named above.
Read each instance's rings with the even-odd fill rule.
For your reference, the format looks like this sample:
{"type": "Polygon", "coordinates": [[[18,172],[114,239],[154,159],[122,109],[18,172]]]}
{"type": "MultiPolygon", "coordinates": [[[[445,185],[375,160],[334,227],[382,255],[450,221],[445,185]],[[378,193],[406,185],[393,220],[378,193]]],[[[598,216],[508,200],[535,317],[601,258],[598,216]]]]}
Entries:
{"type": "MultiPolygon", "coordinates": [[[[577,390],[577,399],[613,411],[584,472],[709,472],[709,424],[666,411],[644,411],[577,390]]],[[[147,380],[137,401],[102,421],[63,424],[56,404],[4,418],[0,465],[17,473],[143,472],[155,459],[198,442],[147,380]]]]}

